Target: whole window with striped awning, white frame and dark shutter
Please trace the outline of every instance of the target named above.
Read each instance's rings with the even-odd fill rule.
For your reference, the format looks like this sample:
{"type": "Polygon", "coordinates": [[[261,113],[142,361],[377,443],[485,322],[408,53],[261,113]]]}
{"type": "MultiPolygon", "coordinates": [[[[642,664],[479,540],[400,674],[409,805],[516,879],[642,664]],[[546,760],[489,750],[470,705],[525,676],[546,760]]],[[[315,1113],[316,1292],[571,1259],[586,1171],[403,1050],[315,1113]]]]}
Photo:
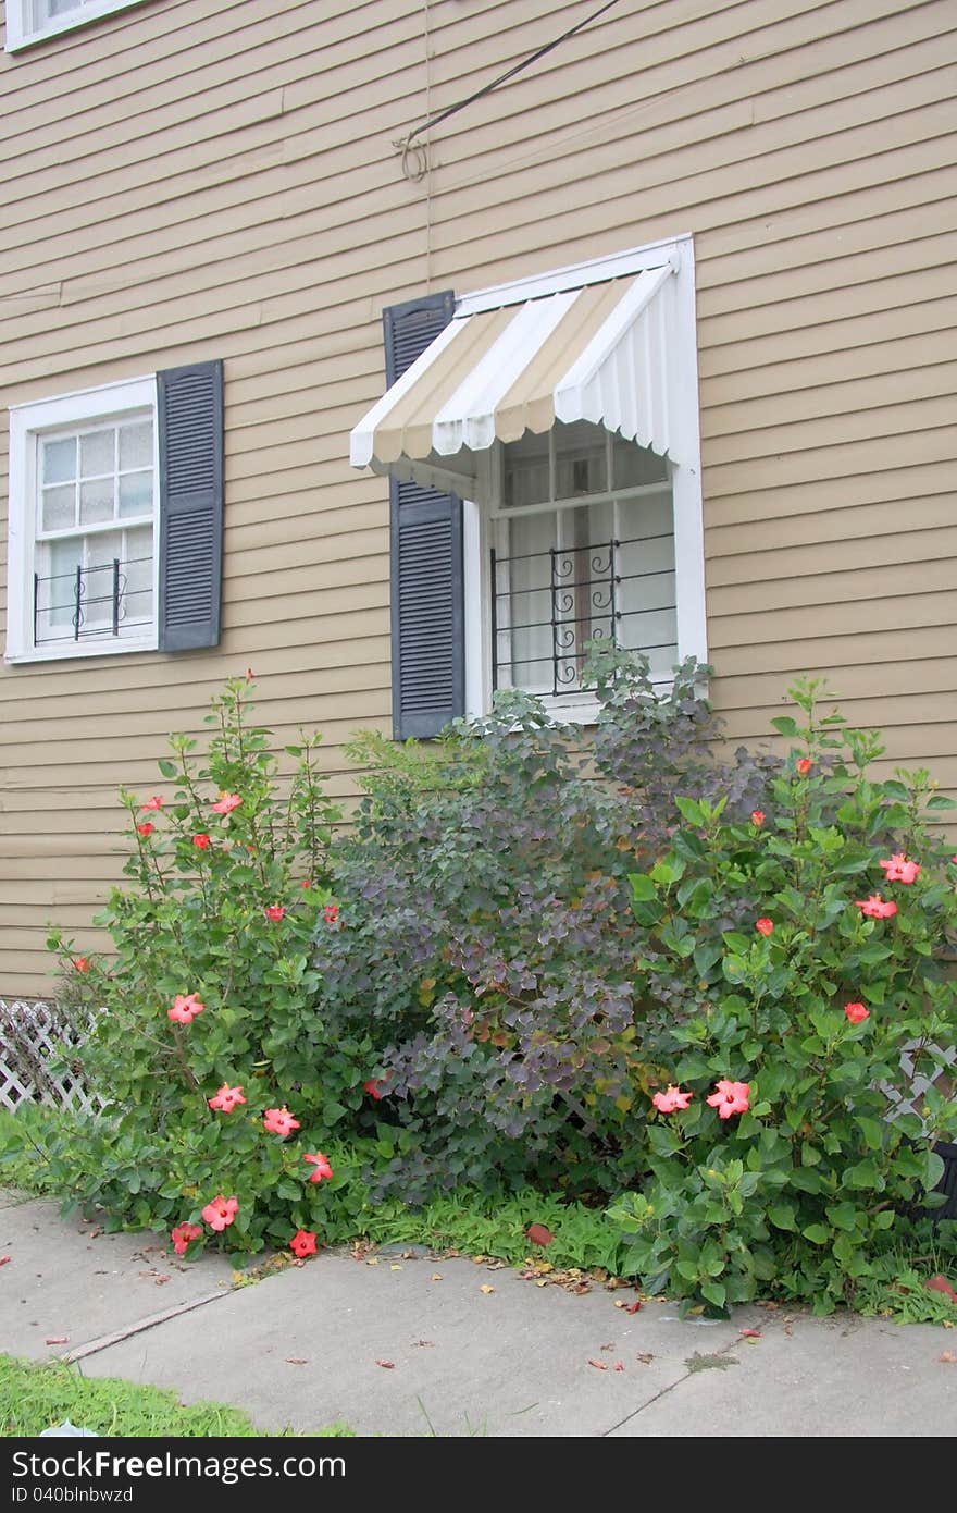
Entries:
{"type": "Polygon", "coordinates": [[[384,310],[349,454],[392,481],[393,725],[596,711],[585,645],[708,660],[691,236],[384,310]]]}

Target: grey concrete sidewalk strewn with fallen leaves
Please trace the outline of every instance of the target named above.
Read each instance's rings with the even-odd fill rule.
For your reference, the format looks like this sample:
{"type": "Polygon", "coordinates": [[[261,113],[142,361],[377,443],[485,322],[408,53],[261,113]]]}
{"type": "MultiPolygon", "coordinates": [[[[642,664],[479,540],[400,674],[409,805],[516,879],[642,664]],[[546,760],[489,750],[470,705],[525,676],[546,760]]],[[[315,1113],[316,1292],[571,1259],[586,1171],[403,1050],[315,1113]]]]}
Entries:
{"type": "Polygon", "coordinates": [[[420,1248],[321,1254],[233,1285],[153,1236],[103,1235],[0,1198],[0,1350],[245,1409],[263,1431],[949,1436],[957,1330],[780,1309],[679,1319],[420,1248]],[[742,1334],[757,1330],[757,1336],[742,1334]],[[63,1339],[65,1337],[65,1339],[63,1339]],[[54,1344],[50,1344],[54,1342],[54,1344]]]}

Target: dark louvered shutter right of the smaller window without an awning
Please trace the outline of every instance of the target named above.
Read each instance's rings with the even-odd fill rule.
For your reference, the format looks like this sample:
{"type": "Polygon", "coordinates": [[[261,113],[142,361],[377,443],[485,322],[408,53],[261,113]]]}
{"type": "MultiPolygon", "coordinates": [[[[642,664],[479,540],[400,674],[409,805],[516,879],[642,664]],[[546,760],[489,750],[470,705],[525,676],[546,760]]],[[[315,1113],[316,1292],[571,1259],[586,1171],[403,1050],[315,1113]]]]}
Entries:
{"type": "Polygon", "coordinates": [[[222,363],[157,377],[160,455],[159,648],[219,643],[222,363]]]}

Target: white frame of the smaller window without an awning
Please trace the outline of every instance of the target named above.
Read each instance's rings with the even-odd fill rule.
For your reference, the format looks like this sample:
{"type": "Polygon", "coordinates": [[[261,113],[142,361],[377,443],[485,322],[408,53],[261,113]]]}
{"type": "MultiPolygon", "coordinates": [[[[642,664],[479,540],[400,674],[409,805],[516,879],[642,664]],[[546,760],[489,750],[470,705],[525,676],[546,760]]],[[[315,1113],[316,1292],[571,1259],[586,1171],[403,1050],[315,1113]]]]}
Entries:
{"type": "MultiPolygon", "coordinates": [[[[159,645],[159,427],[156,375],[129,378],[100,389],[11,405],[11,480],[6,586],[8,663],[65,661],[77,657],[115,657],[156,651],[159,645]],[[133,412],[153,415],[153,619],[142,634],[103,640],[62,642],[36,646],[33,640],[33,573],[36,570],[36,458],[44,433],[98,421],[121,421],[133,412]]],[[[80,534],[77,531],[77,534],[80,534]]]]}

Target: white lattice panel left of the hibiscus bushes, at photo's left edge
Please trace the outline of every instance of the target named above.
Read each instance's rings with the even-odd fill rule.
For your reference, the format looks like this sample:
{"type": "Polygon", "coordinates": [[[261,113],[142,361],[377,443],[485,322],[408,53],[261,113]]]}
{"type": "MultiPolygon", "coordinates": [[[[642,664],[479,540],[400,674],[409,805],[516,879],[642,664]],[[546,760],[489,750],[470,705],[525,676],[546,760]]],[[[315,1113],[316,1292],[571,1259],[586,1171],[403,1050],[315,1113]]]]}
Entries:
{"type": "Polygon", "coordinates": [[[29,1098],[85,1114],[98,1109],[70,1056],[82,1041],[82,1029],[54,1006],[0,999],[0,1108],[29,1098]]]}

